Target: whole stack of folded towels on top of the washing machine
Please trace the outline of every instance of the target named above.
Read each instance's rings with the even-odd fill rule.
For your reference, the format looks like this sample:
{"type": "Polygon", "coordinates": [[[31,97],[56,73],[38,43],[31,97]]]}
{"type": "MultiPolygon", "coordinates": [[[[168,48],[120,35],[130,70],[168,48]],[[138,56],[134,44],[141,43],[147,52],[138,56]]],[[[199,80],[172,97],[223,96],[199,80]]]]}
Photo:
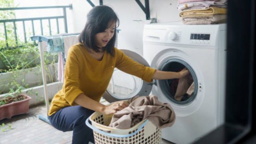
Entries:
{"type": "Polygon", "coordinates": [[[178,0],[183,24],[219,24],[226,22],[227,0],[178,0]]]}

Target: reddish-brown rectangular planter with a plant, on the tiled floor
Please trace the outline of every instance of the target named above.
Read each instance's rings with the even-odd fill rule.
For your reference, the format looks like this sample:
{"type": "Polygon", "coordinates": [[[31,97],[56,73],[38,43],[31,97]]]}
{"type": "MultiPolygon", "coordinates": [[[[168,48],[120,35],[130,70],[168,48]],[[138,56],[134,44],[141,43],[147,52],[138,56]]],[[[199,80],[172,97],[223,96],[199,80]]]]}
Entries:
{"type": "Polygon", "coordinates": [[[7,94],[0,99],[0,120],[28,113],[31,97],[21,94],[21,90],[22,88],[19,88],[13,94],[7,94]]]}

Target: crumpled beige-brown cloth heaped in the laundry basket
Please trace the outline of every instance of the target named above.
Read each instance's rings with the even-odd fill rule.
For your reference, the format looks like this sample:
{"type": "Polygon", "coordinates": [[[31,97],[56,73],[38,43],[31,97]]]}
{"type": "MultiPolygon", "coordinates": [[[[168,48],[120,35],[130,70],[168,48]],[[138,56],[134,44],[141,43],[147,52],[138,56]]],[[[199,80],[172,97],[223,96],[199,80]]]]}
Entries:
{"type": "Polygon", "coordinates": [[[129,100],[128,107],[116,112],[110,122],[110,127],[127,129],[148,118],[158,128],[172,126],[175,113],[170,104],[162,103],[155,95],[135,96],[129,100]]]}

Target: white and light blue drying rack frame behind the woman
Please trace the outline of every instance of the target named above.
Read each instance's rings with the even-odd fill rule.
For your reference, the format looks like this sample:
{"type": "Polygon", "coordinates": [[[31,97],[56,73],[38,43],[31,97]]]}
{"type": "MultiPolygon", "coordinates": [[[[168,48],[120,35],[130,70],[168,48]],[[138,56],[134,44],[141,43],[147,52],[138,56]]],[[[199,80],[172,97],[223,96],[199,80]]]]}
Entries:
{"type": "MultiPolygon", "coordinates": [[[[71,34],[61,34],[61,35],[56,35],[56,36],[31,36],[32,41],[38,40],[38,49],[40,53],[40,61],[41,61],[41,69],[42,69],[42,78],[43,78],[43,87],[44,87],[44,100],[45,100],[45,105],[46,105],[46,112],[48,113],[49,111],[49,97],[48,97],[48,92],[47,92],[47,82],[46,82],[46,72],[45,72],[45,66],[44,66],[44,50],[43,50],[43,45],[42,42],[49,42],[53,38],[58,38],[58,37],[63,37],[63,36],[72,36],[72,35],[78,35],[79,33],[71,33],[71,34]]],[[[49,122],[48,117],[46,116],[39,116],[39,119],[44,120],[46,122],[49,122]]]]}

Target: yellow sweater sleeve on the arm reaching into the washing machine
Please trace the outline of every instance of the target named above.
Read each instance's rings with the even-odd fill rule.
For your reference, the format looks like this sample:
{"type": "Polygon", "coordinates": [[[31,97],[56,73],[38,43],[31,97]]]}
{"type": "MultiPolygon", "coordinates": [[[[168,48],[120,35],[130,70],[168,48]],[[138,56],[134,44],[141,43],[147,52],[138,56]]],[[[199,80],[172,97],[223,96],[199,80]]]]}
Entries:
{"type": "Polygon", "coordinates": [[[144,66],[128,56],[126,56],[121,50],[115,48],[116,52],[116,68],[126,72],[128,74],[137,76],[146,82],[152,82],[152,78],[156,69],[144,66]]]}

